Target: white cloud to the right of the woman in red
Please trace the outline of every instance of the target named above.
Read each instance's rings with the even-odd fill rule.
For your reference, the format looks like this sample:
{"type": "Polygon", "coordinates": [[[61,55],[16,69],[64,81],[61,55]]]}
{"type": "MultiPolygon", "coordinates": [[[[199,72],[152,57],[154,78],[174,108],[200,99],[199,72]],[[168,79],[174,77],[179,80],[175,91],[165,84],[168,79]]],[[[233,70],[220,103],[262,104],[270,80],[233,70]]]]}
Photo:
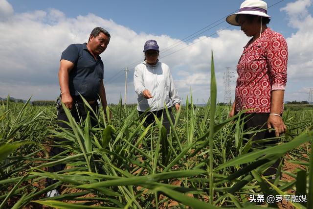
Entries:
{"type": "MultiPolygon", "coordinates": [[[[313,18],[308,10],[310,6],[312,6],[312,0],[297,0],[281,9],[287,13],[290,24],[298,28],[296,33],[286,38],[289,51],[286,96],[289,100],[296,96],[294,92],[298,89],[297,87],[312,87],[313,18]],[[288,92],[292,94],[288,95],[288,92]]],[[[302,100],[304,99],[306,97],[302,95],[302,100]]]]}

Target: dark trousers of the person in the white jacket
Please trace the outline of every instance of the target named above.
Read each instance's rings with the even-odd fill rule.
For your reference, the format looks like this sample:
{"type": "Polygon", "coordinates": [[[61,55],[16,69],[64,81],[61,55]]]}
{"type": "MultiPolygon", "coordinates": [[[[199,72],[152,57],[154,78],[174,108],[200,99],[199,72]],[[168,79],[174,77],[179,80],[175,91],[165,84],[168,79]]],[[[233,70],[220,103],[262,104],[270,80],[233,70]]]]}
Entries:
{"type": "MultiPolygon", "coordinates": [[[[172,122],[174,124],[175,118],[174,118],[173,113],[172,113],[172,108],[168,108],[168,112],[170,114],[170,118],[167,117],[165,109],[158,110],[158,111],[147,112],[146,116],[148,116],[148,117],[145,120],[144,126],[148,127],[151,123],[155,122],[155,116],[154,115],[156,115],[157,118],[161,118],[162,115],[163,115],[163,122],[162,122],[162,124],[165,127],[167,134],[169,134],[170,133],[170,129],[171,129],[171,124],[170,124],[169,120],[172,120],[172,122]]],[[[138,111],[138,113],[139,113],[139,116],[144,114],[144,112],[141,112],[141,111],[138,111]]]]}

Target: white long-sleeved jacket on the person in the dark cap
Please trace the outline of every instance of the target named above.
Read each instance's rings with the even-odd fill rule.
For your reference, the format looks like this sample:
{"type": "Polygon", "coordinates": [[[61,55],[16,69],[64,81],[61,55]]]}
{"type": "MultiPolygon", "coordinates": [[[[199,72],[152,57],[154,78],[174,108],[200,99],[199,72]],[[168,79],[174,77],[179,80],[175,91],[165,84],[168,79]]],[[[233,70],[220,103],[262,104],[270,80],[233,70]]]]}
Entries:
{"type": "Polygon", "coordinates": [[[168,65],[157,62],[156,65],[149,65],[142,62],[134,70],[134,88],[138,94],[137,110],[144,112],[157,111],[169,108],[174,104],[180,104],[180,98],[175,88],[174,81],[168,65]],[[150,99],[143,97],[142,92],[149,90],[153,96],[150,99]]]}

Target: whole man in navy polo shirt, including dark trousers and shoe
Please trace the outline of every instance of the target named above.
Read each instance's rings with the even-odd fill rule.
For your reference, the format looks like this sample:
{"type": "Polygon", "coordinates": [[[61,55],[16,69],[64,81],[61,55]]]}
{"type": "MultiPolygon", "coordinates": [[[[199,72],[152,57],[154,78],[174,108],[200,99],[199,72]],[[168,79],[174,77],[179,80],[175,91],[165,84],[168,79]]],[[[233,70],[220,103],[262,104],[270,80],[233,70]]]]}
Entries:
{"type": "MultiPolygon", "coordinates": [[[[80,117],[85,120],[86,108],[81,99],[81,94],[92,107],[97,111],[97,99],[100,96],[104,110],[107,107],[106,92],[103,85],[103,62],[99,56],[109,45],[111,35],[101,27],[94,28],[89,36],[88,43],[72,44],[62,53],[59,69],[59,83],[61,88],[60,100],[71,110],[71,115],[78,122],[80,117]]],[[[58,120],[68,121],[62,105],[58,103],[58,120]]],[[[92,114],[90,114],[92,116],[92,114]]],[[[97,121],[91,119],[91,125],[95,126],[97,121]]],[[[58,122],[58,126],[68,128],[66,123],[58,122]]],[[[55,142],[62,139],[54,138],[55,142]]],[[[55,156],[65,151],[64,148],[54,147],[50,156],[55,156]]],[[[48,172],[64,170],[65,164],[59,164],[48,168],[48,172]]],[[[56,183],[57,180],[47,179],[46,186],[56,183]]],[[[48,197],[59,195],[57,189],[47,193],[48,197]]]]}

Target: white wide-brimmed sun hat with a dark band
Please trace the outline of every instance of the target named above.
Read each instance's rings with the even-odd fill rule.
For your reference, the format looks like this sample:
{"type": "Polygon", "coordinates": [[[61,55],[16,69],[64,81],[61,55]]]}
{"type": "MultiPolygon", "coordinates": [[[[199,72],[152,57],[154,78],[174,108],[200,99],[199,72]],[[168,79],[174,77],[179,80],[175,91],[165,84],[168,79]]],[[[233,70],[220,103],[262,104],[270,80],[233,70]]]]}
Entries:
{"type": "Polygon", "coordinates": [[[241,5],[239,12],[229,15],[226,22],[232,25],[240,26],[236,22],[236,16],[239,14],[257,15],[270,18],[268,13],[268,4],[263,0],[245,0],[241,5]]]}

